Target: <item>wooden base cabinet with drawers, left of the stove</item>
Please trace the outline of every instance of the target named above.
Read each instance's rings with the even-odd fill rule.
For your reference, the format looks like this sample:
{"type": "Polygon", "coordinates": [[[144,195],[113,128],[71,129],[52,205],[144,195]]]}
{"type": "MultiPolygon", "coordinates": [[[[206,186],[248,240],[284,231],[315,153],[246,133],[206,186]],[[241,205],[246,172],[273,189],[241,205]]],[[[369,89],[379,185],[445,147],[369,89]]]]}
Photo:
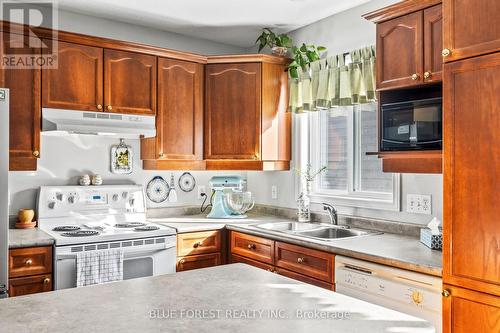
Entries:
{"type": "Polygon", "coordinates": [[[22,296],[51,291],[52,247],[9,250],[9,295],[22,296]]]}

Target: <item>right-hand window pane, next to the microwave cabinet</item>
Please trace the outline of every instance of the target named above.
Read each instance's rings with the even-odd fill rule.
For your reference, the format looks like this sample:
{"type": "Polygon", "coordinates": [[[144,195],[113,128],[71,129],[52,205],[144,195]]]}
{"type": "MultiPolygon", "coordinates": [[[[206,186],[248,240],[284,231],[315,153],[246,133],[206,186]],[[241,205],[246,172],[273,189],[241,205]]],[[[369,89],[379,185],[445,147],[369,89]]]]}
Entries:
{"type": "Polygon", "coordinates": [[[392,192],[392,173],[382,172],[382,160],[377,156],[367,156],[367,152],[378,149],[377,144],[377,105],[368,103],[356,106],[360,117],[360,184],[358,191],[363,192],[392,192]]]}

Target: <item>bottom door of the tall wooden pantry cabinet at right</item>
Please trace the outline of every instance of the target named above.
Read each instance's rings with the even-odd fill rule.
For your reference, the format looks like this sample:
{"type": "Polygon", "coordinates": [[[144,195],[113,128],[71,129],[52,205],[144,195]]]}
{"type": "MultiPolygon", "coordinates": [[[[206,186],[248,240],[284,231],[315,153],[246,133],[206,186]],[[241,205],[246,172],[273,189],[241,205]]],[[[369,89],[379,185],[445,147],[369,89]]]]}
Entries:
{"type": "Polygon", "coordinates": [[[444,285],[443,333],[500,332],[500,297],[444,285]]]}

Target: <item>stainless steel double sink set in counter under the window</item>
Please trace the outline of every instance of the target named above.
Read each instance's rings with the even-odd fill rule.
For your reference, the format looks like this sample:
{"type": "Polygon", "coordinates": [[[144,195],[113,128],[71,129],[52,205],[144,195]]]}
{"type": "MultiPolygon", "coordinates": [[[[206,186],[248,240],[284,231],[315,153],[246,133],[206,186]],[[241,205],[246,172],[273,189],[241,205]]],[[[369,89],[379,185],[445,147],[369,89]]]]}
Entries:
{"type": "Polygon", "coordinates": [[[277,222],[260,223],[254,225],[254,227],[323,241],[380,234],[380,232],[376,231],[349,229],[347,227],[325,223],[277,222]]]}

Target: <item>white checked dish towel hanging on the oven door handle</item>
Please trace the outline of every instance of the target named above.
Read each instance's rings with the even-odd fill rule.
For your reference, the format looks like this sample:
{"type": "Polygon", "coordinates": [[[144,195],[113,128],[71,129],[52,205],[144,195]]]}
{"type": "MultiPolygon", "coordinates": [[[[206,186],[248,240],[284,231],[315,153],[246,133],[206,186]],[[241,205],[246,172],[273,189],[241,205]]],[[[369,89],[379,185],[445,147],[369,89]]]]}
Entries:
{"type": "Polygon", "coordinates": [[[84,287],[123,280],[123,250],[79,252],[76,254],[76,286],[84,287]]]}

